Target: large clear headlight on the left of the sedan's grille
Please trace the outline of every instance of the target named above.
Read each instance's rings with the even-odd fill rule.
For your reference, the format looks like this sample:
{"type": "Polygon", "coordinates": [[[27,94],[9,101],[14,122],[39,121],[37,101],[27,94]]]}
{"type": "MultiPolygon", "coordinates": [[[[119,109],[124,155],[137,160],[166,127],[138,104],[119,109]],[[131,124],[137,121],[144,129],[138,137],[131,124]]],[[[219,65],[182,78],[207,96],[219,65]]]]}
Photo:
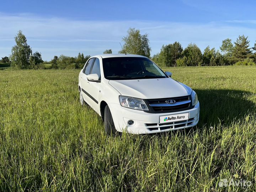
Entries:
{"type": "Polygon", "coordinates": [[[126,96],[119,96],[120,105],[123,107],[141,110],[141,111],[149,111],[148,106],[146,105],[143,99],[133,98],[133,97],[126,97],[126,96]]]}

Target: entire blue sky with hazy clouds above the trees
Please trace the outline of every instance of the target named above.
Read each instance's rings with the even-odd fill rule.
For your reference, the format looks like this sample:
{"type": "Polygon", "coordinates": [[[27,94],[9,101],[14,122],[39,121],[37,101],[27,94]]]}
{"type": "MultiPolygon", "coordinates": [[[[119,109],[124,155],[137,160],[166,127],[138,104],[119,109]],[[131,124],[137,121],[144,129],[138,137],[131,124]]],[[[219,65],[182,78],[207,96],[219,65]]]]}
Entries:
{"type": "Polygon", "coordinates": [[[43,60],[60,54],[117,53],[129,27],[148,33],[151,55],[163,44],[193,42],[203,51],[239,35],[256,40],[256,2],[238,1],[82,1],[4,0],[0,10],[0,57],[8,56],[22,30],[43,60]]]}

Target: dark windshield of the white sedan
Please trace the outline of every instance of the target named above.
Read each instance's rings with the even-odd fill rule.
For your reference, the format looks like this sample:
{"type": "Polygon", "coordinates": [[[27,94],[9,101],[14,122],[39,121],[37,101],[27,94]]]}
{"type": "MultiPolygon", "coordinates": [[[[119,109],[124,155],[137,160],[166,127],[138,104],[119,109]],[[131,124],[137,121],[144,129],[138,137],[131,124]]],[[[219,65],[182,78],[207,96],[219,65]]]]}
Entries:
{"type": "Polygon", "coordinates": [[[103,58],[103,72],[108,80],[167,78],[165,73],[145,57],[103,58]]]}

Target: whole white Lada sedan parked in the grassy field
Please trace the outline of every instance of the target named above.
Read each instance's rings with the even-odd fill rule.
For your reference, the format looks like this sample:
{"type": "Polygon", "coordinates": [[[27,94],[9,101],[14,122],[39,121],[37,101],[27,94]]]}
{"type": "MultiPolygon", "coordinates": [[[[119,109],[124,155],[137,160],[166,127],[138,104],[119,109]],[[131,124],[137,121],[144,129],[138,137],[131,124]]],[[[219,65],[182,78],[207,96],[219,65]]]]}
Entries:
{"type": "Polygon", "coordinates": [[[199,119],[197,94],[147,57],[102,54],[79,73],[80,102],[103,119],[108,135],[158,133],[193,127],[199,119]]]}

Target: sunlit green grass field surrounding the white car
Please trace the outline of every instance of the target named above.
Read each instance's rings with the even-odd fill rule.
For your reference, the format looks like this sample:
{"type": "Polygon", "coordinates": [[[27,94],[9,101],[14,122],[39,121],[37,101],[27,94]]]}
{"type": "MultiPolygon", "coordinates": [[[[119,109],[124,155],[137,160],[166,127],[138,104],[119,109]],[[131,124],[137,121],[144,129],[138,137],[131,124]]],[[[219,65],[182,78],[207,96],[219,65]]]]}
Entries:
{"type": "Polygon", "coordinates": [[[197,92],[198,126],[116,138],[79,70],[1,70],[0,191],[256,191],[256,67],[164,70],[197,92]]]}

